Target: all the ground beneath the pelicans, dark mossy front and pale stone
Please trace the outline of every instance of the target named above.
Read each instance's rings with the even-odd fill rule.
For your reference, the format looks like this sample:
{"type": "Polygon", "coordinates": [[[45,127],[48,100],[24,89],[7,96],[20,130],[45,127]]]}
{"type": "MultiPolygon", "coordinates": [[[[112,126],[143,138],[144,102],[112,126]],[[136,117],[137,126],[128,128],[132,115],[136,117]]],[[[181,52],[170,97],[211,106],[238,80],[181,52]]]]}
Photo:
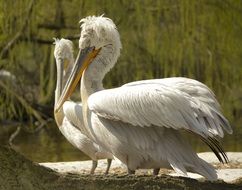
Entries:
{"type": "MultiPolygon", "coordinates": [[[[231,157],[229,165],[223,168],[217,165],[219,178],[227,182],[211,182],[192,179],[201,177],[194,174],[189,174],[192,178],[171,176],[175,175],[172,170],[161,170],[159,176],[151,175],[151,170],[127,175],[126,169],[117,161],[110,174],[103,175],[105,160],[100,161],[96,174],[90,175],[90,161],[38,164],[12,148],[0,145],[0,190],[241,190],[241,154],[228,155],[231,157]]],[[[210,153],[200,156],[214,162],[210,153]]]]}

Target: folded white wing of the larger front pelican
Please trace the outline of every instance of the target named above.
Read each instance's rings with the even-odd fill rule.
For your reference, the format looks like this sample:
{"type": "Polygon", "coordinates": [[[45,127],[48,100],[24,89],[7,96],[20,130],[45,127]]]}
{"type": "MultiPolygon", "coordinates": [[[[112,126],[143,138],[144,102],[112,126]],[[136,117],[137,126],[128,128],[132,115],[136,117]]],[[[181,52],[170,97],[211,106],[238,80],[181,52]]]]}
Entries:
{"type": "Polygon", "coordinates": [[[186,78],[139,81],[92,94],[88,106],[97,115],[134,126],[186,129],[203,137],[232,133],[214,94],[186,78]]]}

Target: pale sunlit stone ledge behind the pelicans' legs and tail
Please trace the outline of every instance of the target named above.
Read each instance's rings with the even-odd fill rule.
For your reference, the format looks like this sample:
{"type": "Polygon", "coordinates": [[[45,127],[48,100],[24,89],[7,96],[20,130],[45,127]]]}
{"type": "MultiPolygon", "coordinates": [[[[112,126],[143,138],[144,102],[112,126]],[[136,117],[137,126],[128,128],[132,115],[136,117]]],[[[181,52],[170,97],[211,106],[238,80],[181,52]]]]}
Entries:
{"type": "MultiPolygon", "coordinates": [[[[216,156],[211,152],[199,153],[199,156],[207,162],[213,164],[218,171],[218,178],[227,183],[236,183],[242,180],[242,153],[228,152],[228,164],[220,164],[216,156]]],[[[51,168],[60,173],[89,174],[91,161],[75,161],[75,162],[57,162],[57,163],[40,163],[40,165],[51,168]]],[[[107,166],[106,160],[99,160],[95,174],[103,174],[107,166]]],[[[117,160],[113,160],[110,169],[110,175],[125,175],[126,168],[117,160]]],[[[171,176],[179,176],[174,170],[161,169],[159,175],[166,174],[171,176]]],[[[152,170],[137,170],[136,175],[152,175],[152,170]]],[[[198,174],[188,173],[188,177],[201,179],[203,177],[198,174]]]]}

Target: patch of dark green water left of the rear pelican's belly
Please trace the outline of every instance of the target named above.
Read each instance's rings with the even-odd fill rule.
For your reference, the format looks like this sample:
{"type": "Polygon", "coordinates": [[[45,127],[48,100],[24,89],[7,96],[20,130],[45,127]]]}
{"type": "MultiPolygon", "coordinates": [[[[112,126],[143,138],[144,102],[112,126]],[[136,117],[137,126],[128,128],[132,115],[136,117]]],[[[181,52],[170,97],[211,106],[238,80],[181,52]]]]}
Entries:
{"type": "Polygon", "coordinates": [[[21,131],[13,141],[13,148],[35,162],[57,162],[90,159],[73,147],[55,124],[38,133],[21,131]]]}

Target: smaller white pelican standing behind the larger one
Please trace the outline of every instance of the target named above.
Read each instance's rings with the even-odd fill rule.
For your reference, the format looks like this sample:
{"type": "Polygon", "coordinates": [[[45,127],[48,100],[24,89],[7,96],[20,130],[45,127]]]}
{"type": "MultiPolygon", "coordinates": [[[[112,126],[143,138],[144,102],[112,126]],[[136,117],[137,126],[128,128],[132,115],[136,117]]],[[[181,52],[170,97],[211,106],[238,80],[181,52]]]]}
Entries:
{"type": "MultiPolygon", "coordinates": [[[[74,64],[72,42],[66,39],[55,39],[54,56],[57,66],[57,83],[55,90],[55,106],[61,95],[62,86],[65,83],[65,78],[68,76],[68,71],[74,64]]],[[[102,147],[94,143],[91,139],[83,134],[83,117],[82,104],[73,101],[66,101],[63,108],[56,113],[55,120],[61,133],[66,139],[76,148],[84,152],[92,159],[91,174],[94,173],[98,159],[107,158],[108,164],[105,174],[108,174],[112,154],[104,151],[102,147]],[[79,115],[79,117],[75,117],[79,115]]]]}

